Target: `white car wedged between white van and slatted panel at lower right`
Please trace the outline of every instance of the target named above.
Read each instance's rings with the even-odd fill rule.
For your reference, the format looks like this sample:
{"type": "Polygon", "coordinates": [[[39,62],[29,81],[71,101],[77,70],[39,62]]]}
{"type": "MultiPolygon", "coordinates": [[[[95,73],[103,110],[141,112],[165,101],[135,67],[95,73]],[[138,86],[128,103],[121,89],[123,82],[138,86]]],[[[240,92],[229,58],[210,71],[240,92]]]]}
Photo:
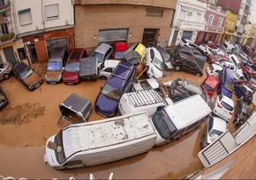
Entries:
{"type": "Polygon", "coordinates": [[[206,121],[205,133],[202,139],[202,147],[205,148],[214,142],[227,130],[227,122],[224,119],[209,116],[206,121]]]}

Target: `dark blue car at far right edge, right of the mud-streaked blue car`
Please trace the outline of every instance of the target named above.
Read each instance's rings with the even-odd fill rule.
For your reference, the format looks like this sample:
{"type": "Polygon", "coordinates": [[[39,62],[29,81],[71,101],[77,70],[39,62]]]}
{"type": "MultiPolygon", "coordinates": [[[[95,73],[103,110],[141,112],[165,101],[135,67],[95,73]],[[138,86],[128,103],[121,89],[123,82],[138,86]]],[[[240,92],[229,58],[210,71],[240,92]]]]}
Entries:
{"type": "Polygon", "coordinates": [[[236,84],[234,93],[242,101],[245,101],[248,104],[252,103],[253,91],[244,84],[236,84]]]}

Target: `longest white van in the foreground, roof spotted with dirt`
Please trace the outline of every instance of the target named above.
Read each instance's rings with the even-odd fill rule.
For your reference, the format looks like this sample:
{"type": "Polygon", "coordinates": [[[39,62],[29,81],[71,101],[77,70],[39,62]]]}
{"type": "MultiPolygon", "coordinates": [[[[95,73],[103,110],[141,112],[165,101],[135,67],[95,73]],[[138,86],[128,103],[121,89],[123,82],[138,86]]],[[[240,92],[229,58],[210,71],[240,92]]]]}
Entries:
{"type": "Polygon", "coordinates": [[[75,124],[47,140],[44,162],[55,169],[114,162],[149,151],[155,139],[146,112],[75,124]]]}

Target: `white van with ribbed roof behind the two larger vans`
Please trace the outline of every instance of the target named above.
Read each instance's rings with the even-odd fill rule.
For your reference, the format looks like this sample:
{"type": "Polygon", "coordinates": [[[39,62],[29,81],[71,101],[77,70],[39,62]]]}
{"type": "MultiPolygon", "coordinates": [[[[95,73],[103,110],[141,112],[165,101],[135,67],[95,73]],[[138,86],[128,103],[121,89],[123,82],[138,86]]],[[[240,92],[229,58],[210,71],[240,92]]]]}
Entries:
{"type": "Polygon", "coordinates": [[[161,110],[169,104],[173,104],[170,98],[163,99],[153,89],[139,90],[124,93],[118,104],[118,110],[122,115],[132,112],[147,112],[148,116],[152,116],[154,112],[161,110]]]}

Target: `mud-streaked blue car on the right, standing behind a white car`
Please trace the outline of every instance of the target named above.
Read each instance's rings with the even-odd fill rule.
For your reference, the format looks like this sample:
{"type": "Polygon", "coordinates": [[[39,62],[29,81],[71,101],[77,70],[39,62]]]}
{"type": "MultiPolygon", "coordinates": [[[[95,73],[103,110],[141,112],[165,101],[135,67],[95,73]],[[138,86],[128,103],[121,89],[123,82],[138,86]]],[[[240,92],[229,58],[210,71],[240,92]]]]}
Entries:
{"type": "Polygon", "coordinates": [[[222,68],[222,71],[220,71],[219,74],[219,78],[221,85],[218,90],[218,94],[222,94],[226,97],[232,98],[235,84],[232,70],[230,68],[222,68]]]}

